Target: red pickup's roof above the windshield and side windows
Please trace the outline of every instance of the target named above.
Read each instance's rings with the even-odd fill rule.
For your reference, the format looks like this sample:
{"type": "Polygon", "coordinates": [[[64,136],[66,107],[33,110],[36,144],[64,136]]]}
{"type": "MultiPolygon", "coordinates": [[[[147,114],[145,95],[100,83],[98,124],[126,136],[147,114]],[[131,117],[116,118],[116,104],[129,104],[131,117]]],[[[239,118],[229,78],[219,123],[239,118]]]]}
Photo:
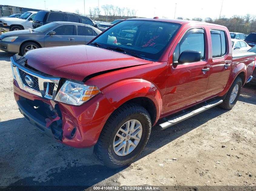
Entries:
{"type": "Polygon", "coordinates": [[[161,22],[169,22],[169,23],[178,23],[178,24],[199,24],[199,25],[209,25],[209,26],[216,26],[216,27],[224,27],[218,24],[212,24],[207,22],[200,22],[200,21],[190,21],[190,20],[181,20],[181,19],[165,19],[165,18],[132,18],[127,20],[144,20],[144,21],[161,21],[161,22]]]}

